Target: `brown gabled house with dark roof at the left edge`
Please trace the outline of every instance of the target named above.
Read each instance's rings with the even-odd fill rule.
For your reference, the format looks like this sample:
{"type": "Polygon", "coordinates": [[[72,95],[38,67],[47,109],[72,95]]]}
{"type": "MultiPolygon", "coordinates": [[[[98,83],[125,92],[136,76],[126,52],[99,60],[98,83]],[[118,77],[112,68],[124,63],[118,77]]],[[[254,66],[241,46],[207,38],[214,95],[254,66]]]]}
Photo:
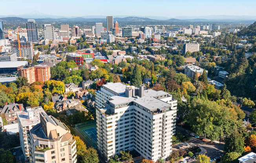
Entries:
{"type": "Polygon", "coordinates": [[[23,104],[5,103],[5,106],[0,109],[0,114],[4,114],[7,121],[15,121],[17,119],[16,112],[22,110],[24,110],[23,104]]]}

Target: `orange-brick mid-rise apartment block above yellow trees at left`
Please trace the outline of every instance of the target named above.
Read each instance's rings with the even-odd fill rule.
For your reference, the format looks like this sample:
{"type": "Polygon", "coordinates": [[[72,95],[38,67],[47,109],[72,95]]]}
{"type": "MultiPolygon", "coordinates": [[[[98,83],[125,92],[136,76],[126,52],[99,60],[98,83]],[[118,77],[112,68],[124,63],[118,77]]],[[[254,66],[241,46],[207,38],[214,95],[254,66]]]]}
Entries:
{"type": "Polygon", "coordinates": [[[35,65],[33,67],[18,67],[18,75],[26,77],[28,83],[45,82],[51,78],[51,70],[49,65],[35,65]]]}

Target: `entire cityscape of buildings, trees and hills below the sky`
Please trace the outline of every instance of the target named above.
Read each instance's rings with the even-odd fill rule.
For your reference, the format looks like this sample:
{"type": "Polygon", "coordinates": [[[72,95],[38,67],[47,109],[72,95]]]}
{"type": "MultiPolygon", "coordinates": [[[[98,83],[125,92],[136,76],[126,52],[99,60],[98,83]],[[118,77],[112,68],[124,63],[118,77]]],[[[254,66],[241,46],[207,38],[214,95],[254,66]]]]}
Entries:
{"type": "Polygon", "coordinates": [[[0,18],[1,163],[256,162],[256,22],[0,18]]]}

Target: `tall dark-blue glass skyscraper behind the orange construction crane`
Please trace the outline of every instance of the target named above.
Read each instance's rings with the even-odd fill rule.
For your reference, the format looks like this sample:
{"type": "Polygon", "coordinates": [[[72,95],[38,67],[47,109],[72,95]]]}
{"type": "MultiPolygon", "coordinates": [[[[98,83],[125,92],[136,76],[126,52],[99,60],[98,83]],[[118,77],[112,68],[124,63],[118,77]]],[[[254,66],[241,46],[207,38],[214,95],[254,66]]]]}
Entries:
{"type": "Polygon", "coordinates": [[[33,19],[27,20],[27,40],[28,42],[38,42],[37,23],[33,19]]]}

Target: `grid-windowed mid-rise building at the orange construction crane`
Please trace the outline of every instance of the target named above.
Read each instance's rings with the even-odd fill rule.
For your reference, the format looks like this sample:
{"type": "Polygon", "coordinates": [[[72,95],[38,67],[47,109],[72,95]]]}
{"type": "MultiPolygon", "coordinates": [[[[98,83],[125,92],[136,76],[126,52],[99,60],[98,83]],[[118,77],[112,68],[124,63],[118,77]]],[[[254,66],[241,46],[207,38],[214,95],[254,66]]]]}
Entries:
{"type": "Polygon", "coordinates": [[[18,41],[12,41],[10,44],[11,44],[11,52],[16,53],[17,57],[33,60],[34,49],[33,49],[32,42],[20,42],[20,51],[19,51],[18,41]]]}

